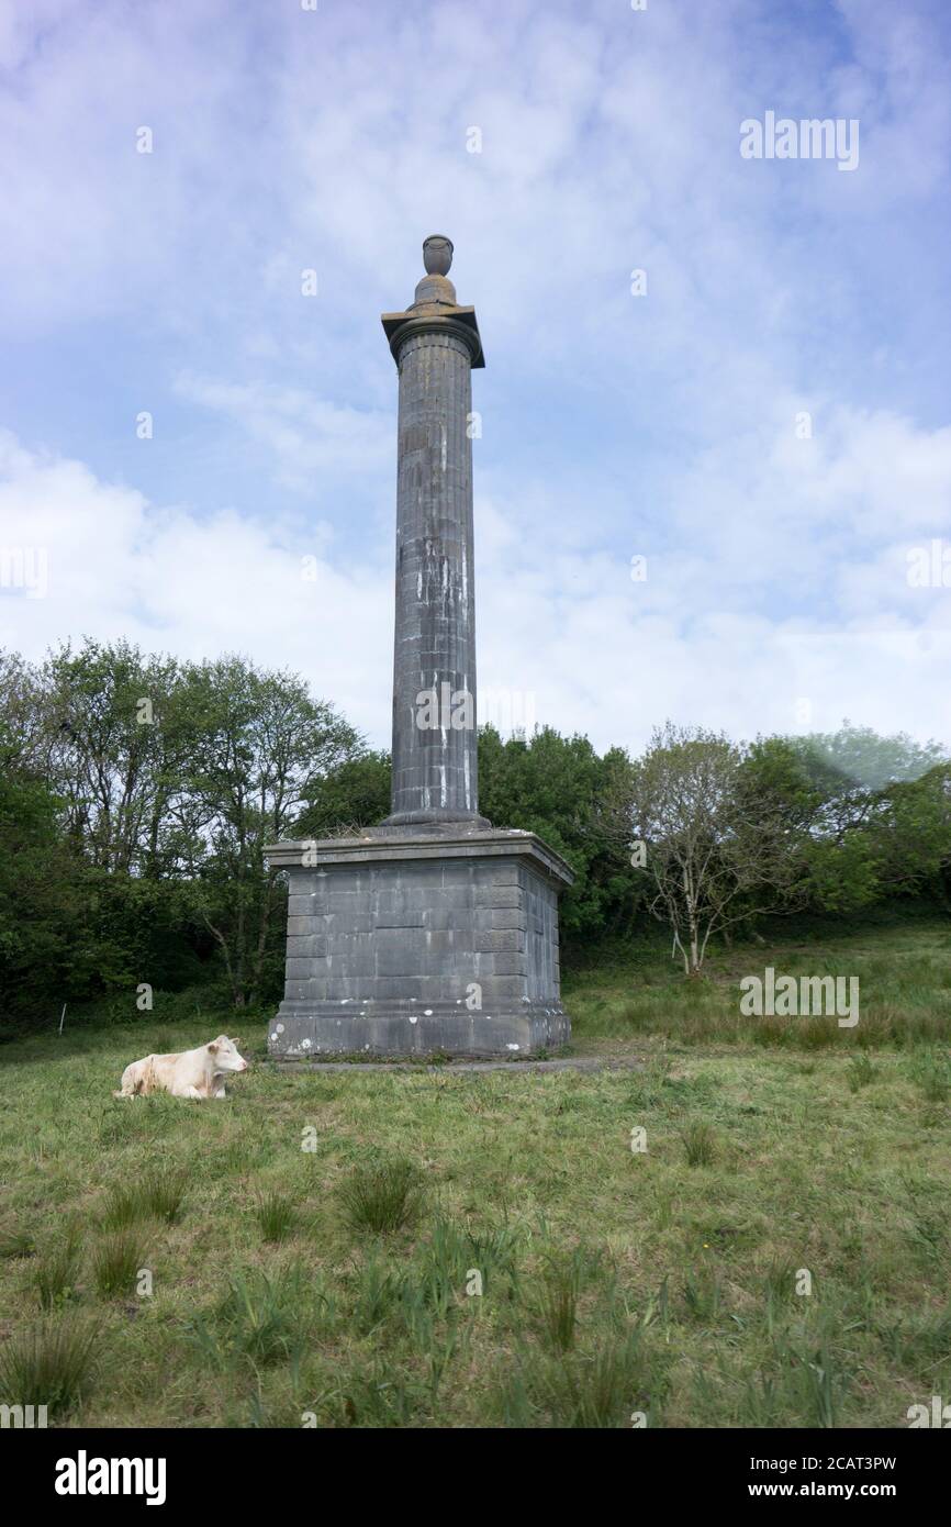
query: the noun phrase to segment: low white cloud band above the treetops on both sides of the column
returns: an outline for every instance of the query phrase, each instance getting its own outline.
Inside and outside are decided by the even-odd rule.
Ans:
[[[919,463],[902,438],[911,481],[928,478],[934,441],[920,437]],[[844,470],[835,458],[827,478]],[[9,437],[0,515],[8,544],[49,553],[46,599],[0,591],[2,644],[40,657],[58,638],[90,634],[194,658],[241,651],[304,673],[374,742],[388,742],[392,567],[383,550],[354,565],[330,544],[314,553],[299,524],[159,510]],[[704,562],[675,548],[635,583],[609,553],[522,538],[517,510],[502,502],[476,496],[476,525],[479,683],[531,695],[540,724],[585,731],[598,747],[640,747],[666,716],[734,736],[801,730],[797,707],[808,701],[820,730],[847,715],[885,731],[951,736],[951,594],[908,589],[895,548],[850,570],[853,618],[833,623],[823,609],[803,615],[798,599],[766,612],[721,602],[714,548]],[[305,554],[316,554],[316,582],[302,577]],[[933,612],[942,600],[943,625],[928,629],[925,602]]]

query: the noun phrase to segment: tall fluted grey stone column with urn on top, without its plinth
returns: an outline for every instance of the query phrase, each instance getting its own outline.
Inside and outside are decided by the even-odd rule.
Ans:
[[[423,246],[426,276],[383,327],[400,373],[391,826],[487,826],[478,809],[472,519],[475,312]]]

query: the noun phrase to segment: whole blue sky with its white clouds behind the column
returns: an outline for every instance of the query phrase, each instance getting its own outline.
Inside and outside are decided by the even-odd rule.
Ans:
[[[14,0],[0,547],[49,576],[0,646],[243,651],[385,744],[379,316],[446,232],[484,715],[951,741],[951,588],[907,576],[951,547],[949,44],[945,0]],[[856,119],[858,166],[742,159],[766,111]]]

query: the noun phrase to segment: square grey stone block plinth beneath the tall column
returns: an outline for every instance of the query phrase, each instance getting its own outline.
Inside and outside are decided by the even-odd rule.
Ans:
[[[379,829],[267,857],[290,883],[273,1057],[511,1057],[568,1041],[557,898],[574,876],[534,834]]]

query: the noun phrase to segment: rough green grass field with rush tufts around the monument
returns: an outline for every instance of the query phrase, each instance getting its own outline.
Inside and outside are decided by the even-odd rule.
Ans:
[[[951,1393],[951,930],[656,948],[579,1054],[111,1098],[208,1015],[0,1049],[0,1402],[92,1426],[904,1426]],[[861,1020],[740,1020],[772,964]],[[643,1132],[643,1135],[632,1132]],[[632,1148],[643,1145],[644,1148]],[[811,1293],[797,1292],[811,1278]],[[151,1287],[151,1292],[148,1292]],[[481,1289],[481,1292],[479,1292]]]

